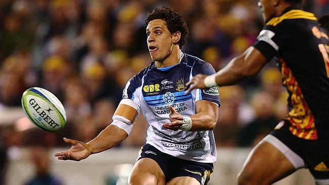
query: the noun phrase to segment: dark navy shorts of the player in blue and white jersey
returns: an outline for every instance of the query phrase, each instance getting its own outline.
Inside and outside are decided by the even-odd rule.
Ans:
[[[210,180],[210,174],[214,170],[213,163],[200,163],[180,159],[160,152],[149,144],[141,148],[137,160],[142,158],[153,159],[162,169],[167,182],[175,177],[190,176],[197,179],[201,185],[205,185]]]

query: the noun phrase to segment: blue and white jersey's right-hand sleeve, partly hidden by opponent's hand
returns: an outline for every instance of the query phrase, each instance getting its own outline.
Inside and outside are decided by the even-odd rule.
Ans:
[[[213,66],[209,63],[204,63],[199,70],[194,74],[206,74],[206,75],[211,75],[216,73],[215,69]],[[210,102],[216,103],[218,106],[221,105],[220,103],[220,98],[219,98],[219,91],[218,91],[218,86],[213,86],[207,89],[195,89],[195,102],[199,100],[207,100]]]

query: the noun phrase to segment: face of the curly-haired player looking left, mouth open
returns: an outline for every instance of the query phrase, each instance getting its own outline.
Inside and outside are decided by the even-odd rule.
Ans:
[[[147,46],[153,61],[162,62],[173,50],[173,36],[166,21],[154,19],[146,27]]]

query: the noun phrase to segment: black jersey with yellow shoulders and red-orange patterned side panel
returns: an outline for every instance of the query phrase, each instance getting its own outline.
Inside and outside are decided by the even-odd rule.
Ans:
[[[292,134],[306,140],[329,138],[329,38],[317,18],[297,7],[268,21],[254,47],[268,61],[276,57],[289,92]]]

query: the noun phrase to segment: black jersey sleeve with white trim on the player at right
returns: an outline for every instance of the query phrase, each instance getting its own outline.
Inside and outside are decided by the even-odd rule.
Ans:
[[[267,61],[270,61],[283,47],[284,42],[289,37],[287,34],[283,23],[277,26],[266,25],[259,33],[253,47],[259,50]]]

